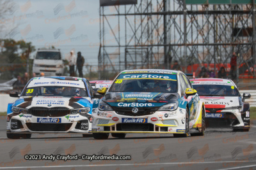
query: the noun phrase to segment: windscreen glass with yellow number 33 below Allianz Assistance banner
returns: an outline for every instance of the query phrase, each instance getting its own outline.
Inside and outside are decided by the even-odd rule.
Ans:
[[[30,87],[24,90],[22,96],[63,96],[63,97],[88,97],[86,89],[65,86]]]

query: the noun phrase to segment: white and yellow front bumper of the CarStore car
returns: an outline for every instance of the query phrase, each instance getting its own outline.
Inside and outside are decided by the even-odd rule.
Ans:
[[[152,115],[131,117],[115,111],[95,111],[92,132],[96,133],[178,133],[184,134],[186,110],[156,111]]]

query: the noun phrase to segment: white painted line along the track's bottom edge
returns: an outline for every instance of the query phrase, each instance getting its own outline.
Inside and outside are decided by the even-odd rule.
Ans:
[[[255,161],[218,161],[218,162],[166,162],[166,163],[149,163],[148,165],[175,165],[175,164],[216,164],[216,163],[250,163]],[[145,164],[104,164],[104,165],[71,165],[71,166],[19,166],[19,167],[0,167],[0,169],[21,169],[21,168],[56,168],[56,167],[108,167],[108,166],[145,166]],[[256,165],[253,165],[256,166]],[[221,169],[224,170],[224,169]]]

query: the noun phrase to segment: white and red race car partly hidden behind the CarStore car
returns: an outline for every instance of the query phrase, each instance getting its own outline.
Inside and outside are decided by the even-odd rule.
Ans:
[[[232,80],[197,78],[190,81],[205,103],[207,127],[250,130],[250,104],[244,102],[250,94],[244,93],[242,97]]]

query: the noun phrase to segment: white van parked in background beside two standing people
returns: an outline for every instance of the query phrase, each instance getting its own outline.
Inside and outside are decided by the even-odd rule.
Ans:
[[[61,76],[63,71],[60,50],[38,49],[33,64],[33,73],[36,73],[36,76],[40,76],[40,73],[44,73],[45,76]]]

